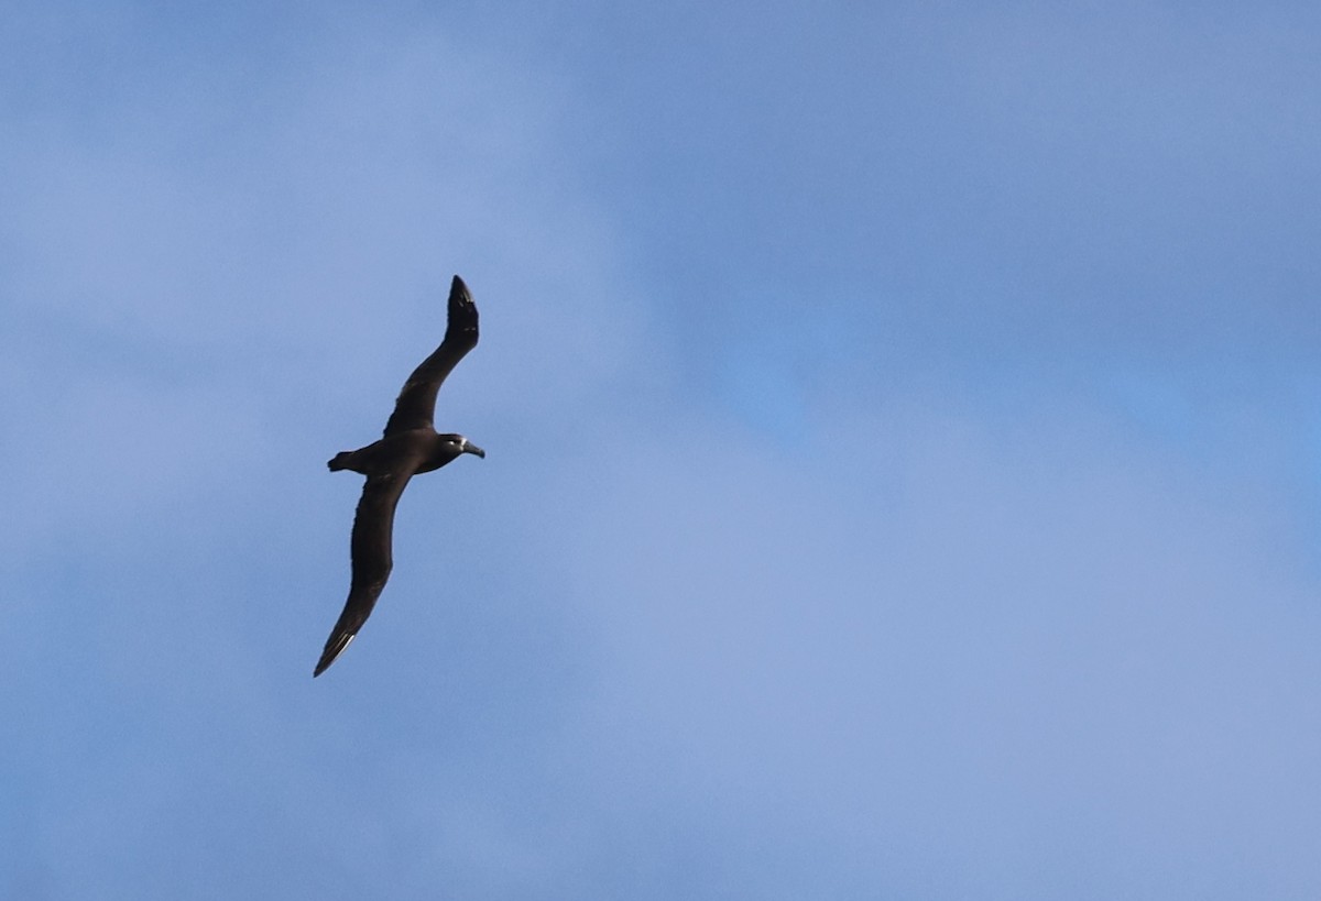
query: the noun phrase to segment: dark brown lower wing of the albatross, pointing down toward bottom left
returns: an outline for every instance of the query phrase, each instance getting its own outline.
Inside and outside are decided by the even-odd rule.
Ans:
[[[390,579],[390,569],[394,565],[390,546],[395,526],[395,506],[411,477],[411,472],[404,472],[402,476],[371,476],[362,486],[358,514],[353,519],[353,581],[349,587],[349,600],[334,629],[330,630],[330,638],[326,639],[313,676],[325,672],[349,646],[362,629],[362,624],[371,616],[371,608],[376,605],[380,589]]]

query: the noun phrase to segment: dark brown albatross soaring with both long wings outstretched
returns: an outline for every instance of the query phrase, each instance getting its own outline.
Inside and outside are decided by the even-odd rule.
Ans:
[[[486,452],[462,435],[437,435],[432,425],[436,391],[454,365],[477,346],[477,306],[468,285],[457,275],[449,287],[449,325],[436,351],[404,382],[395,412],[379,441],[357,450],[343,450],[328,462],[332,472],[351,469],[367,477],[353,521],[353,580],[349,600],[334,624],[326,647],[317,661],[313,678],[325,672],[349,646],[362,624],[371,616],[392,565],[390,535],[395,524],[395,505],[408,480],[417,473],[440,469],[461,453]]]

